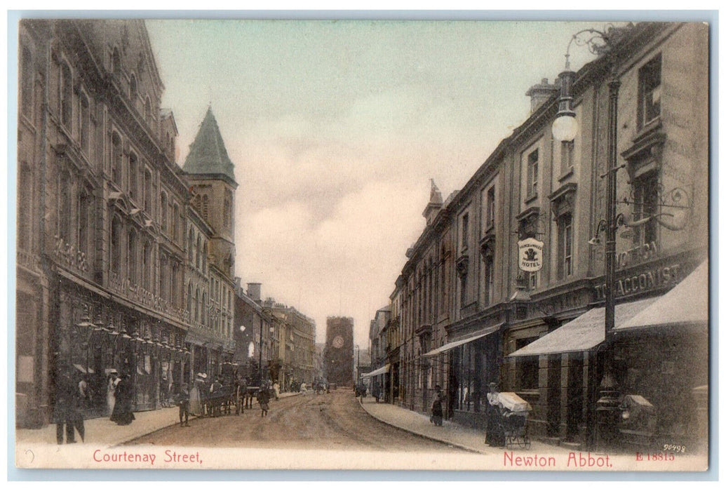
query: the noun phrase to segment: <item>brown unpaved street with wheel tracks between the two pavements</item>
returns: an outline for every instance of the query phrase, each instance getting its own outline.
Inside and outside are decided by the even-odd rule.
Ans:
[[[273,400],[266,418],[261,418],[255,402],[244,415],[197,418],[189,422],[188,428],[176,424],[130,443],[464,453],[380,423],[360,407],[350,389]]]

